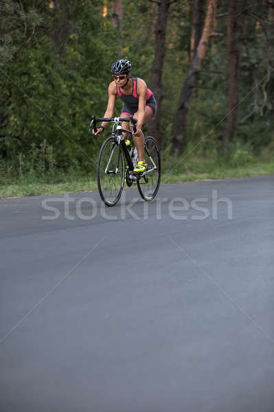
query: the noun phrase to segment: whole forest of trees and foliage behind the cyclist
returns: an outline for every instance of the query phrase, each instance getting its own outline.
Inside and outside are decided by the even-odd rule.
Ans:
[[[118,58],[155,94],[146,133],[165,168],[273,159],[274,0],[1,0],[0,14],[1,185],[94,174],[89,122]]]

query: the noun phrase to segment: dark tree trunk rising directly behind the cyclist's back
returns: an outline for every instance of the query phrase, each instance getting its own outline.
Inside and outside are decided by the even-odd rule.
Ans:
[[[152,89],[157,101],[157,111],[155,117],[148,124],[148,133],[155,137],[159,146],[161,146],[160,117],[161,117],[161,87],[163,60],[165,58],[165,34],[168,23],[168,9],[170,0],[159,1],[159,14],[155,25],[155,58],[152,63],[150,74],[150,88]]]

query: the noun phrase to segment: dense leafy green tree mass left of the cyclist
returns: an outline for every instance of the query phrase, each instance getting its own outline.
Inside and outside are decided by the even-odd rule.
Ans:
[[[32,3],[10,0],[0,8],[0,155],[16,161],[47,140],[58,165],[90,165],[100,143],[87,135],[87,119],[106,104],[109,71],[100,85],[98,71],[113,60],[113,27],[106,22],[102,30],[101,4],[93,0]]]

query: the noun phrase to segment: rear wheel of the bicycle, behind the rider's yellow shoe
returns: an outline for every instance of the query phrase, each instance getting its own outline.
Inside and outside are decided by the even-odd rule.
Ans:
[[[145,138],[145,161],[148,173],[137,180],[139,194],[144,201],[153,201],[158,193],[161,181],[161,156],[157,141],[154,137]]]

